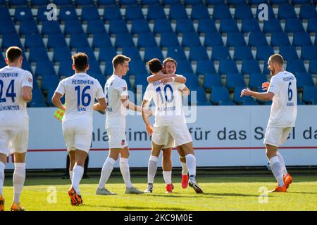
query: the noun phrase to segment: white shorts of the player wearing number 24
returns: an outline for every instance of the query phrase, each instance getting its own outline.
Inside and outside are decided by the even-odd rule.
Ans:
[[[29,143],[29,130],[0,130],[0,153],[26,153]]]

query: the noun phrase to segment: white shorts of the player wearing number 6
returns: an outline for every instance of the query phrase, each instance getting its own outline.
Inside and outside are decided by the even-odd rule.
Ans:
[[[264,144],[280,147],[282,143],[285,143],[292,127],[266,127],[266,135],[264,136]]]

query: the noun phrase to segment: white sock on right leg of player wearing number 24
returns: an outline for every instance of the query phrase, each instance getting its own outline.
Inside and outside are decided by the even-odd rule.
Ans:
[[[15,163],[13,172],[13,193],[14,203],[20,203],[20,195],[22,193],[25,181],[25,163]]]

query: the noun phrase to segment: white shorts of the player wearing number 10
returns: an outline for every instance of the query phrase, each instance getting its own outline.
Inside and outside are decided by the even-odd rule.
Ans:
[[[192,142],[192,136],[187,129],[187,124],[184,122],[170,126],[154,127],[152,141],[157,145],[168,146],[170,144],[168,143],[168,134],[175,140],[175,146],[182,146],[185,143]]]

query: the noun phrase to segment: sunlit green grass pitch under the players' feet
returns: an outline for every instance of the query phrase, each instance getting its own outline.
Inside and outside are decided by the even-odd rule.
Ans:
[[[21,203],[26,210],[317,210],[316,176],[294,175],[287,193],[268,193],[260,196],[263,187],[271,190],[275,185],[273,176],[198,176],[197,181],[204,194],[196,194],[189,186],[182,189],[180,176],[174,174],[173,194],[166,194],[163,179],[156,175],[154,193],[142,195],[125,194],[120,176],[111,176],[107,188],[118,195],[95,195],[99,178],[83,179],[80,185],[83,205],[71,206],[68,197],[69,180],[60,178],[29,178],[25,181]],[[133,177],[132,183],[139,190],[147,187],[147,177]],[[54,195],[56,190],[56,195]],[[261,192],[260,192],[261,191]],[[9,177],[4,182],[6,210],[13,198],[13,186]],[[49,201],[48,201],[49,200]],[[55,203],[56,200],[56,203]],[[50,203],[49,203],[50,202]]]

